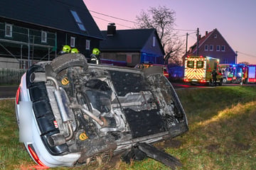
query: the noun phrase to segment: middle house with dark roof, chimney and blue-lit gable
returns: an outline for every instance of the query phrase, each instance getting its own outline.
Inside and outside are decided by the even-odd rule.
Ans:
[[[102,63],[134,67],[139,63],[164,63],[164,49],[156,29],[116,30],[114,23],[102,31]]]

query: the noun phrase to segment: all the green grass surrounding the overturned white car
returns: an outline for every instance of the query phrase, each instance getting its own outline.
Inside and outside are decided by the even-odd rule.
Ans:
[[[179,170],[251,170],[256,167],[256,87],[220,86],[177,90],[189,130],[176,137],[181,145],[157,144],[181,160]],[[14,100],[0,101],[0,169],[38,169],[18,142]],[[145,159],[55,169],[169,169]]]

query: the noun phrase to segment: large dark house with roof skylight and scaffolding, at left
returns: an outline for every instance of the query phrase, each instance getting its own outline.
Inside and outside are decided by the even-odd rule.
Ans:
[[[63,45],[90,55],[102,33],[82,0],[1,0],[0,67],[53,60]]]

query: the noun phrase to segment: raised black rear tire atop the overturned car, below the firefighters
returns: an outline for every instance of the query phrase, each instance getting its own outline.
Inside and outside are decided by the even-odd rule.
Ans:
[[[53,62],[50,64],[53,67],[53,71],[58,74],[63,69],[68,67],[83,67],[84,69],[88,68],[87,60],[85,56],[80,53],[68,53],[56,57]]]

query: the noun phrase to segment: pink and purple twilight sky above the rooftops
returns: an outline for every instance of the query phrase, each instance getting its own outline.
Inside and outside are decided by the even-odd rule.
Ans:
[[[108,23],[115,23],[117,30],[135,28],[133,22],[142,10],[166,6],[176,13],[174,28],[184,43],[186,33],[189,34],[188,47],[196,42],[197,28],[202,36],[217,28],[230,47],[238,52],[238,62],[256,64],[256,0],[83,1],[100,30],[107,30]]]

